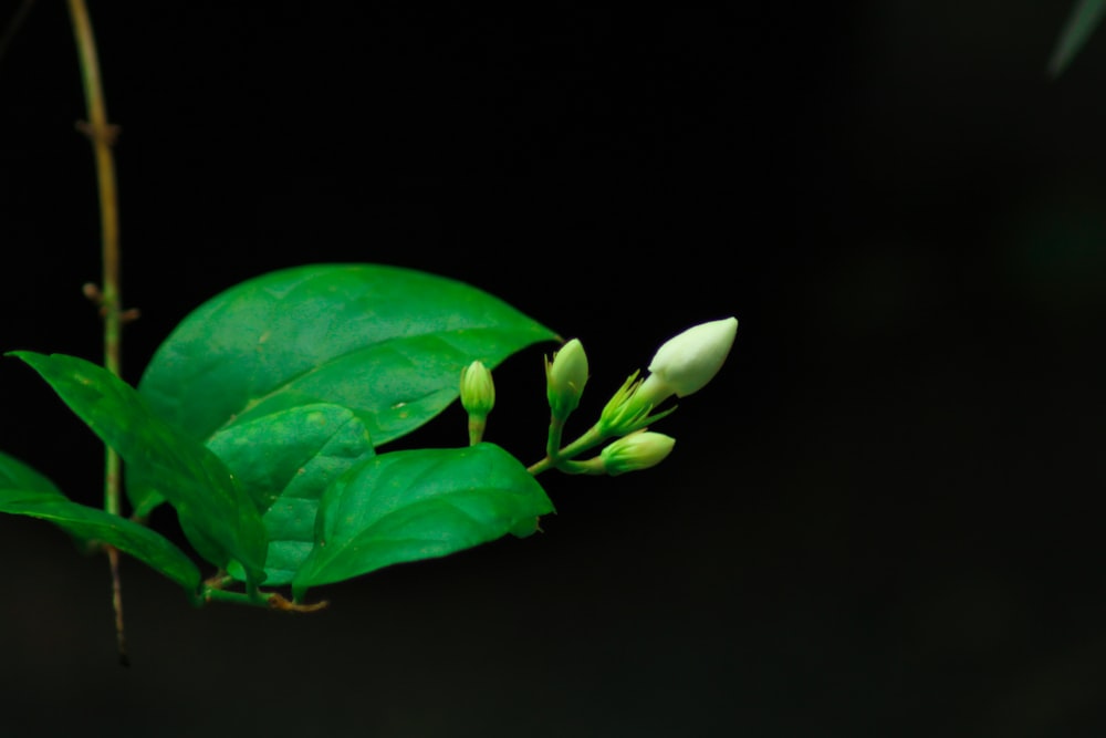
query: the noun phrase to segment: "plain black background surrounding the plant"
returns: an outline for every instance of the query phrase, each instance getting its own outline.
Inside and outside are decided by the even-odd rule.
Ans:
[[[1050,80],[1067,2],[732,4],[91,3],[132,382],[204,300],[321,261],[580,336],[581,424],[664,339],[741,328],[665,464],[543,477],[544,534],[310,616],[125,561],[131,669],[106,564],[0,519],[4,735],[1106,732],[1106,38]],[[39,0],[0,59],[0,349],[100,355],[83,115]],[[497,373],[524,460],[543,351]],[[95,438],[13,360],[0,412],[97,503]]]

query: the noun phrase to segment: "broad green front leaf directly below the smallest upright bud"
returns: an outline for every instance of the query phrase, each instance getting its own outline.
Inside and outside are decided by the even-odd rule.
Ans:
[[[394,451],[348,471],[323,495],[315,548],[292,582],[307,588],[383,567],[525,536],[553,511],[541,485],[492,444]]]

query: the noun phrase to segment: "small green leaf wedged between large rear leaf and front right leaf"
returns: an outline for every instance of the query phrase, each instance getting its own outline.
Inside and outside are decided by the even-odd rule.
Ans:
[[[337,405],[303,405],[217,433],[208,448],[262,514],[269,554],[265,584],[288,584],[314,545],[319,498],[373,443],[354,413]],[[242,578],[241,569],[229,572]]]

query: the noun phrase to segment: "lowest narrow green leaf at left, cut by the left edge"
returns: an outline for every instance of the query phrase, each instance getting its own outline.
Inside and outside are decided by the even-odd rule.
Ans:
[[[180,549],[126,518],[77,505],[56,491],[9,488],[3,482],[0,482],[0,512],[49,520],[81,540],[114,545],[189,592],[199,589],[200,571]]]

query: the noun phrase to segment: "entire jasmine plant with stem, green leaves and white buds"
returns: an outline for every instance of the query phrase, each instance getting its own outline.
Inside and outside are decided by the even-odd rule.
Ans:
[[[104,505],[73,501],[46,475],[0,453],[0,512],[46,520],[112,569],[121,659],[118,555],[178,584],[196,605],[311,612],[309,593],[400,562],[525,537],[554,510],[538,478],[616,476],[666,459],[675,439],[648,429],[719,372],[738,322],[666,342],[580,437],[563,443],[589,377],[583,344],[476,287],[373,263],[306,264],[232,285],[189,313],[132,386],[119,376],[123,310],[112,146],[92,25],[69,0],[100,190],[103,278],[85,294],[104,319],[104,361],[19,350],[22,362],[103,443]],[[492,372],[538,344],[550,420],[526,465],[486,439]],[[455,401],[468,445],[387,451]],[[542,448],[538,436],[535,448]],[[585,454],[592,454],[582,458]],[[539,451],[540,454],[541,451]],[[538,454],[535,454],[538,456]],[[167,506],[190,547],[150,527]]]

